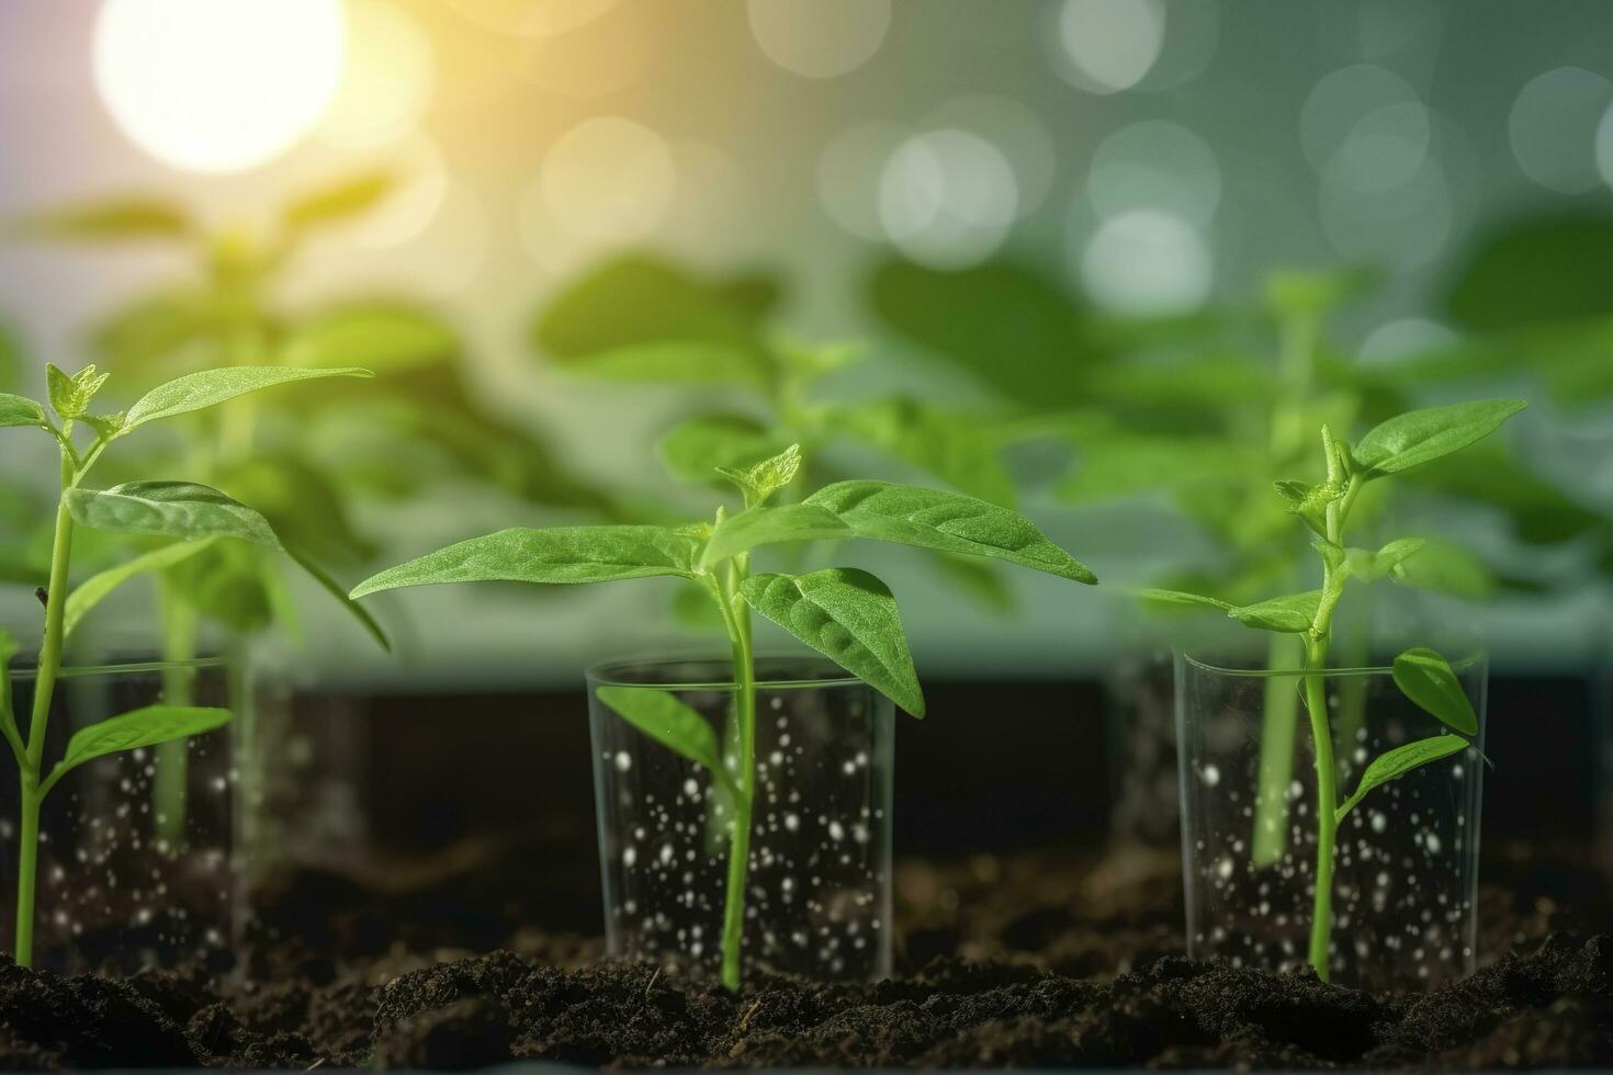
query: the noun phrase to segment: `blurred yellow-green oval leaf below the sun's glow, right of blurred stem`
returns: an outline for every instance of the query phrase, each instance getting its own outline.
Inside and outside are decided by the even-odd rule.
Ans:
[[[386,376],[448,361],[458,350],[458,335],[434,314],[366,306],[298,324],[281,348],[281,361],[302,369],[363,366]]]

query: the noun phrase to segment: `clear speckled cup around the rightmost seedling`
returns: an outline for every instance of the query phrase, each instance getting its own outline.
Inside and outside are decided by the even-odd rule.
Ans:
[[[1339,825],[1331,980],[1369,990],[1432,988],[1474,970],[1486,661],[1453,662],[1479,717],[1473,746],[1381,785]],[[1316,672],[1327,699],[1340,803],[1384,751],[1447,728],[1411,703],[1387,667]],[[1277,788],[1268,698],[1305,674],[1218,667],[1177,654],[1182,870],[1187,948],[1234,965],[1305,965],[1316,891],[1316,767],[1298,706]],[[1265,788],[1263,788],[1265,785]],[[1261,864],[1257,830],[1281,825]],[[1269,836],[1269,832],[1268,832]],[[1271,846],[1269,838],[1265,840]]]

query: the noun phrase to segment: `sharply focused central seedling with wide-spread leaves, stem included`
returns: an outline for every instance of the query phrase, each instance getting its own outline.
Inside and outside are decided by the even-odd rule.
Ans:
[[[744,509],[718,508],[710,522],[684,527],[598,525],[511,529],[450,545],[361,582],[361,598],[379,590],[445,582],[610,582],[673,575],[710,596],[727,632],[734,661],[731,748],[718,743],[698,712],[663,690],[602,687],[600,699],[627,724],[711,774],[731,803],[727,883],[723,906],[723,985],[740,982],[745,875],[756,790],[756,675],[750,614],[760,612],[840,664],[915,717],[924,716],[913,658],[895,596],[855,567],[806,574],[752,574],[750,556],[766,545],[821,538],[895,542],[942,553],[984,556],[1074,582],[1097,579],[1053,545],[1024,516],[997,504],[890,482],[834,482],[798,503],[771,504],[802,466],[800,448],[748,467],[719,467],[744,496]]]

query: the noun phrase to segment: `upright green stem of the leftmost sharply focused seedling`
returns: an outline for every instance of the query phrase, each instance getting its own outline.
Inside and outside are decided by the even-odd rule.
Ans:
[[[45,641],[39,650],[39,672],[34,677],[34,711],[27,727],[27,749],[21,775],[21,843],[16,869],[16,962],[34,965],[34,890],[39,864],[39,770],[45,759],[45,730],[50,727],[50,701],[61,670],[63,614],[68,606],[68,566],[73,559],[73,513],[66,490],[74,479],[71,459],[61,456],[61,490],[56,503],[56,533],[50,550],[50,583],[45,590]]]

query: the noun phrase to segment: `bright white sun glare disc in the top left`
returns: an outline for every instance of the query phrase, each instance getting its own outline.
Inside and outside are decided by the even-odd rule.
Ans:
[[[152,156],[235,172],[308,132],[345,50],[340,0],[106,0],[95,84]]]

